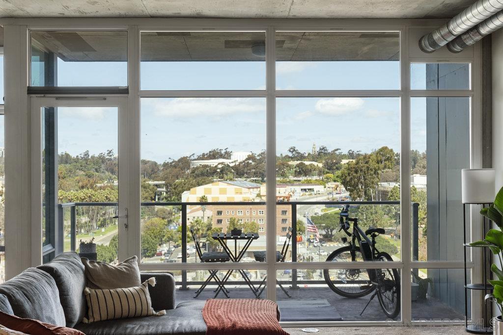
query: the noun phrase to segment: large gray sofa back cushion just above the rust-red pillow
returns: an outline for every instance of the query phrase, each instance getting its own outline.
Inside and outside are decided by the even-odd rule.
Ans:
[[[45,271],[29,268],[0,285],[14,315],[54,325],[66,324],[54,279]]]

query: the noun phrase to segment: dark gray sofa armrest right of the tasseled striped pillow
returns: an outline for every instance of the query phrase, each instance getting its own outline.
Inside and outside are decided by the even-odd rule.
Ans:
[[[148,286],[152,299],[152,308],[155,310],[175,308],[175,278],[166,272],[141,272],[141,281],[155,278],[155,286]]]

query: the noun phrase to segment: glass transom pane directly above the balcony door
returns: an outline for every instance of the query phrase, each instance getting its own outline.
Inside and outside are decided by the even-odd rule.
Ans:
[[[127,86],[127,32],[31,32],[31,86]]]

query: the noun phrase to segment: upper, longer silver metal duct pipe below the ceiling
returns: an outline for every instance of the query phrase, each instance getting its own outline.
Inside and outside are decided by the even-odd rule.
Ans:
[[[419,47],[424,52],[434,52],[500,10],[503,0],[478,0],[447,24],[423,36]]]

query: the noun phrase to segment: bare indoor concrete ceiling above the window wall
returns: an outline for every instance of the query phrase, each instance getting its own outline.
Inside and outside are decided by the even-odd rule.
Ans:
[[[474,0],[0,0],[0,18],[443,19]]]

